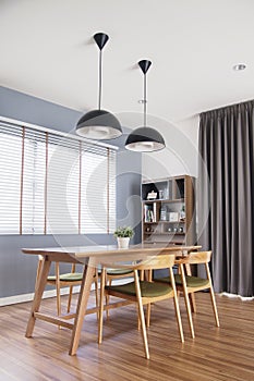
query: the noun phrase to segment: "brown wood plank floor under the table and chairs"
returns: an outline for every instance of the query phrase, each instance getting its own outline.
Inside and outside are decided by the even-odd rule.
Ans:
[[[153,305],[148,332],[150,360],[144,358],[135,306],[110,311],[104,342],[97,344],[96,316],[86,316],[76,356],[69,356],[71,331],[37,321],[25,339],[31,303],[0,309],[0,380],[24,381],[253,381],[254,302],[217,295],[221,328],[216,328],[209,295],[197,294],[196,339],[180,298],[185,343],[178,335],[172,300]],[[44,300],[44,310],[56,299]],[[94,303],[93,296],[90,304]]]

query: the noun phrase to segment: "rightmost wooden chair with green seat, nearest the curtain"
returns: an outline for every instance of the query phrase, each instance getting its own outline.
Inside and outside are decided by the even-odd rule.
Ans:
[[[176,259],[176,263],[179,266],[179,274],[174,274],[176,285],[178,292],[182,292],[184,295],[184,302],[186,306],[188,311],[188,318],[189,318],[189,324],[191,330],[191,335],[194,339],[194,325],[193,325],[193,319],[192,319],[192,311],[196,312],[196,304],[195,298],[191,298],[190,303],[190,296],[197,292],[203,290],[209,290],[210,293],[210,299],[215,316],[216,325],[219,327],[219,317],[215,300],[215,293],[214,287],[211,283],[210,278],[210,271],[209,271],[209,262],[210,262],[211,251],[192,251],[189,254],[188,257],[181,257]],[[190,272],[190,266],[191,265],[201,265],[204,263],[205,270],[206,270],[206,279],[199,278],[199,276],[192,276]],[[167,278],[157,279],[159,282],[167,282]]]

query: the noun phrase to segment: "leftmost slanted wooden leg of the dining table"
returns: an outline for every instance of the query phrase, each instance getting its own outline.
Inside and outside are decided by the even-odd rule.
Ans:
[[[35,327],[35,316],[34,312],[38,312],[39,310],[39,306],[40,306],[40,302],[43,298],[43,294],[44,294],[44,290],[47,283],[47,276],[49,273],[49,268],[50,268],[51,261],[48,260],[48,258],[43,260],[43,265],[41,265],[41,269],[39,271],[39,276],[36,281],[36,285],[35,285],[35,296],[34,296],[34,300],[32,304],[32,308],[31,308],[31,315],[29,315],[29,319],[28,319],[28,323],[26,327],[26,337],[31,337],[34,331],[34,327]]]

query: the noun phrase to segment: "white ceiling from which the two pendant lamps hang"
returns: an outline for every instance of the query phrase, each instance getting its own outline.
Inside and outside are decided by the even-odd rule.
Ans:
[[[254,98],[252,0],[0,0],[0,85],[78,111],[97,108],[105,32],[102,108],[178,122]],[[234,72],[235,63],[246,70]]]

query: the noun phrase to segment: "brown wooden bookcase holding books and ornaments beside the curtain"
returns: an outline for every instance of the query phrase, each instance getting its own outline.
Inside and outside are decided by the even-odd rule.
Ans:
[[[142,183],[143,242],[196,242],[195,179],[189,175]]]

